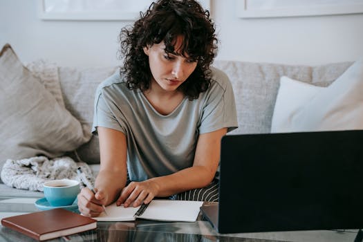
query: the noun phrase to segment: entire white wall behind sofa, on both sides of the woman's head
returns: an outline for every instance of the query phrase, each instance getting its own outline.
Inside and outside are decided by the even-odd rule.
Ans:
[[[363,14],[240,19],[236,1],[211,0],[220,37],[217,59],[325,64],[363,56]],[[113,66],[127,21],[42,21],[37,0],[0,0],[0,45],[10,43],[23,62]]]

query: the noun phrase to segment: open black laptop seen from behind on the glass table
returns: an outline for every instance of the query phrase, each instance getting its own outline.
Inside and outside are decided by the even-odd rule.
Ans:
[[[219,233],[363,227],[363,131],[224,136]]]

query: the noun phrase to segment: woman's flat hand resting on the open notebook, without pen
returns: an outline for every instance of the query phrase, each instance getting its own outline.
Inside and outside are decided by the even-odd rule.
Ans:
[[[150,203],[157,196],[159,186],[154,180],[145,180],[142,182],[131,182],[127,187],[122,189],[120,197],[116,201],[116,205],[122,203],[124,207],[138,207],[142,203]]]

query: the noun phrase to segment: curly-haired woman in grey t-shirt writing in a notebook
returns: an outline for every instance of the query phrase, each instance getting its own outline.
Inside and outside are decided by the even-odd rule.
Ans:
[[[237,121],[227,76],[210,68],[214,32],[194,0],[159,0],[122,29],[124,66],[95,95],[101,165],[96,194],[78,196],[82,214],[155,197],[218,201],[221,138]]]

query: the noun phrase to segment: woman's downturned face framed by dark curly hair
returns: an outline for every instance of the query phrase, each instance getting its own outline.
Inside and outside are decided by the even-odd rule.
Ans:
[[[183,37],[177,37],[174,50],[178,52]],[[156,82],[165,91],[176,91],[189,75],[193,73],[197,62],[183,57],[178,53],[165,53],[164,41],[144,48],[149,56],[149,66],[152,74],[151,84]]]

